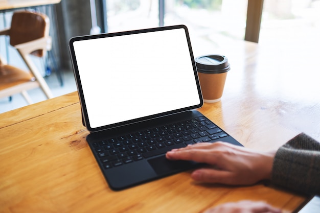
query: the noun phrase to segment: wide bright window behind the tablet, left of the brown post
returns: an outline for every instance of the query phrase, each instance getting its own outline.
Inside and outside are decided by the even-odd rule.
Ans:
[[[247,0],[107,0],[105,5],[107,32],[158,27],[163,21],[186,25],[194,39],[244,38]]]

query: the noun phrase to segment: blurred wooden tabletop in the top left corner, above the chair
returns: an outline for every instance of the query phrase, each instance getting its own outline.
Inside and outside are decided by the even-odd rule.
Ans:
[[[58,4],[61,0],[0,0],[0,10]]]

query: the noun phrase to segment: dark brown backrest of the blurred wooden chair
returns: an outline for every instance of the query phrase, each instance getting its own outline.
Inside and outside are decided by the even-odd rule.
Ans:
[[[17,45],[38,38],[49,36],[50,20],[42,13],[17,11],[12,15],[9,31],[10,44]],[[43,50],[36,50],[32,55],[42,57]]]

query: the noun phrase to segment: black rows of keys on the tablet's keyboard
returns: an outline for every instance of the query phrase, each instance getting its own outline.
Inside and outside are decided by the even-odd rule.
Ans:
[[[212,142],[226,136],[228,135],[210,120],[200,116],[184,122],[106,138],[94,143],[93,150],[104,169],[110,169],[189,144]]]

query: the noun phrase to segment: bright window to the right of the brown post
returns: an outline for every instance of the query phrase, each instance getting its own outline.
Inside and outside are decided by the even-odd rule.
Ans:
[[[319,0],[264,0],[261,44],[319,44]]]

